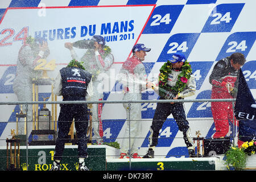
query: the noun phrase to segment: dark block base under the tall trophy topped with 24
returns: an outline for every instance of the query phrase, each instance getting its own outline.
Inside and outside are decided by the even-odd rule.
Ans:
[[[55,145],[57,131],[55,130],[32,130],[30,146]]]

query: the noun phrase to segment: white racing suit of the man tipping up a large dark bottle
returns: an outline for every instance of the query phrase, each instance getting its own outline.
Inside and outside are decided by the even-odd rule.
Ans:
[[[72,59],[78,59],[78,56],[74,49],[71,49]],[[99,74],[105,73],[111,67],[114,62],[114,57],[110,53],[102,59],[100,53],[98,51],[94,51],[94,49],[88,49],[84,56],[81,57],[80,61],[83,61],[83,66],[86,71],[91,73],[92,81],[93,81],[93,96],[88,98],[88,101],[99,101],[103,100],[103,82],[101,78],[99,78]],[[101,104],[93,104],[92,105],[92,127],[93,127],[93,140],[97,140],[98,143],[102,142],[103,137],[103,129],[102,129],[102,103]]]

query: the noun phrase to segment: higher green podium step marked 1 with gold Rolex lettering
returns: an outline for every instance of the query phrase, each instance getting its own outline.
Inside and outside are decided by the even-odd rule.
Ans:
[[[65,145],[61,167],[64,171],[77,171],[77,145]],[[53,163],[55,146],[20,146],[20,171],[48,171]],[[6,146],[0,147],[0,171],[6,170]],[[119,150],[106,145],[88,145],[89,157],[85,166],[92,171],[105,171],[106,158],[119,157]]]

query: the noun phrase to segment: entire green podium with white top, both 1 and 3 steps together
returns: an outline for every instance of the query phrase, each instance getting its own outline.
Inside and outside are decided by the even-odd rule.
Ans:
[[[48,171],[53,163],[55,146],[20,146],[20,170]],[[119,159],[120,151],[106,145],[88,145],[85,165],[92,171],[169,171],[169,170],[226,170],[222,156],[210,158]],[[0,147],[0,171],[6,170],[6,147]],[[130,168],[131,161],[131,168]],[[61,166],[64,171],[77,170],[77,145],[65,145]]]

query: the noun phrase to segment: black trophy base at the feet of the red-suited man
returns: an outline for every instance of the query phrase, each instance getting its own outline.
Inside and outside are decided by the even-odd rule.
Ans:
[[[225,154],[230,146],[229,137],[204,139],[204,157]]]

